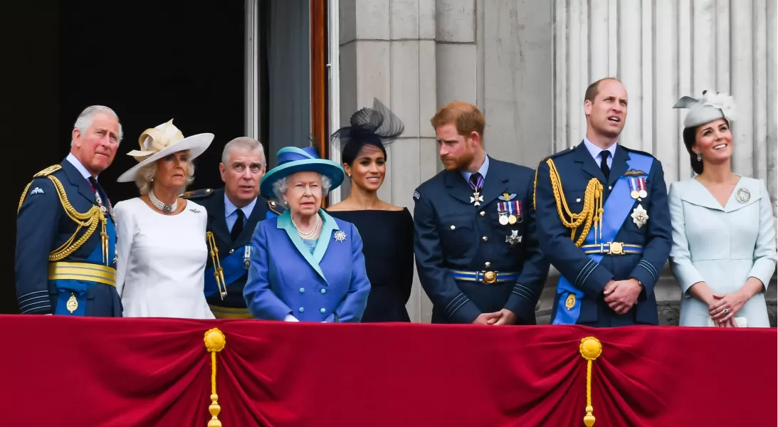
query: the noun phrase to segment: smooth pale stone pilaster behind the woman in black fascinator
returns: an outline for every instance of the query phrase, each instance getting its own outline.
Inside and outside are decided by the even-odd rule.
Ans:
[[[405,123],[387,145],[387,177],[379,196],[413,212],[413,191],[437,173],[435,0],[340,0],[340,114],[385,103]],[[344,187],[342,198],[348,195]],[[429,321],[432,306],[414,278],[408,312]]]

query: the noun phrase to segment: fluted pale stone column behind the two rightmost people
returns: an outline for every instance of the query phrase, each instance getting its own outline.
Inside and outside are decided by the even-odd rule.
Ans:
[[[587,86],[614,76],[629,93],[620,142],[657,156],[669,185],[692,177],[682,140],[686,112],[673,104],[684,95],[701,96],[704,89],[731,93],[738,104],[734,171],[765,179],[776,201],[775,2],[555,0],[553,5],[554,151],[583,138]],[[770,286],[768,305],[774,307]],[[665,268],[657,284],[657,300],[667,309],[664,321],[677,322],[680,298]],[[548,309],[544,297],[541,310]]]

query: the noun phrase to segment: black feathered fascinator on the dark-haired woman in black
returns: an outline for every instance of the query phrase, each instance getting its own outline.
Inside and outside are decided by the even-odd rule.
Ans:
[[[339,139],[343,163],[352,164],[365,145],[375,145],[386,157],[384,145],[391,143],[405,131],[405,124],[383,103],[373,98],[373,108],[363,108],[352,114],[349,126],[332,134]]]

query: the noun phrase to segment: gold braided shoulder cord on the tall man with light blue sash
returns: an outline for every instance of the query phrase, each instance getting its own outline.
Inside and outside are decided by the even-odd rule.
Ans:
[[[548,164],[548,176],[551,178],[551,187],[554,191],[554,199],[556,201],[556,211],[559,213],[559,219],[562,220],[562,225],[571,230],[570,240],[576,243],[577,247],[584,244],[586,236],[591,229],[592,222],[594,222],[594,237],[595,241],[598,236],[602,237],[602,214],[605,210],[602,208],[602,191],[603,187],[600,180],[592,178],[587,184],[586,191],[584,191],[584,208],[579,213],[570,212],[570,208],[567,206],[565,194],[562,192],[562,179],[559,177],[559,172],[556,170],[553,159],[545,161]],[[535,171],[535,188],[538,187],[538,175]],[[564,212],[562,212],[564,208]],[[566,215],[565,215],[566,214]],[[567,219],[569,218],[569,220]],[[583,231],[576,240],[576,230],[580,226],[584,226]]]

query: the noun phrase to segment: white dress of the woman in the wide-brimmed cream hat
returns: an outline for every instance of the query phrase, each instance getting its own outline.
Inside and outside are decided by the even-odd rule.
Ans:
[[[205,301],[208,214],[192,201],[163,215],[140,198],[114,207],[117,222],[116,288],[124,317],[213,319]]]

